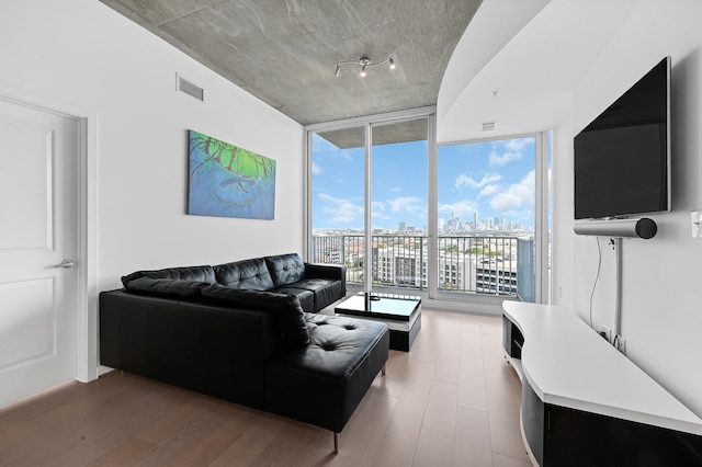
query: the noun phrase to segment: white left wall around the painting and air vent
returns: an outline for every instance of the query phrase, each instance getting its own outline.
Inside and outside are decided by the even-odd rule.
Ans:
[[[177,72],[205,103],[176,92]],[[97,116],[93,358],[97,292],[121,275],[302,252],[303,127],[99,1],[3,0],[2,89]],[[274,220],[185,215],[188,129],[276,160]]]

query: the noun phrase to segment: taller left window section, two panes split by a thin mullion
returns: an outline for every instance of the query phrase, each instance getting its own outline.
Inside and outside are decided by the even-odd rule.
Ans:
[[[309,257],[350,289],[426,289],[429,115],[308,134]],[[367,278],[367,280],[366,280]]]

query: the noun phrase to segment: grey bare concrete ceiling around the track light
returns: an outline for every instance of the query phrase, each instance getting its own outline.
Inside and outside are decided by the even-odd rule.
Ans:
[[[435,105],[482,0],[100,0],[307,125]],[[387,66],[335,64],[367,56]],[[392,139],[392,138],[390,138]]]

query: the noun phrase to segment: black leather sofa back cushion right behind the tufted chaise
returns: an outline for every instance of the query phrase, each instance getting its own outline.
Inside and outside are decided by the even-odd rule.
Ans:
[[[202,296],[228,306],[270,312],[281,333],[281,340],[286,345],[305,345],[309,342],[305,314],[294,295],[235,289],[214,284],[203,288]]]

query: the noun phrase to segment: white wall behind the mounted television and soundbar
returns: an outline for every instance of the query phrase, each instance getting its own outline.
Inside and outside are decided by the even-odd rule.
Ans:
[[[698,414],[702,239],[691,238],[690,210],[702,208],[700,18],[699,1],[641,1],[575,90],[573,117],[558,128],[571,133],[554,160],[559,206],[554,213],[554,295],[589,321],[598,250],[596,238],[573,235],[570,138],[664,56],[672,57],[672,212],[649,216],[658,224],[654,239],[623,240],[622,337],[629,357]],[[614,324],[614,251],[609,239],[600,240],[602,271],[592,307],[597,328]]]

